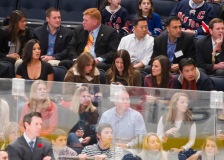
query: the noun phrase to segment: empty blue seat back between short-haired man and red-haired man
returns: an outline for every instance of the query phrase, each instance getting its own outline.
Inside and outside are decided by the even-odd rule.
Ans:
[[[60,0],[58,8],[61,11],[62,24],[81,23],[83,11],[97,8],[98,0]]]

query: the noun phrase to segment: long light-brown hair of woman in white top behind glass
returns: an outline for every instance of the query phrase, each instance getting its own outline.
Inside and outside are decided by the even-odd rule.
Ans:
[[[170,103],[168,106],[168,113],[166,114],[165,122],[171,122],[171,123],[175,122],[175,118],[177,114],[176,105],[177,105],[177,101],[179,100],[179,97],[181,96],[187,97],[187,99],[189,99],[188,95],[185,93],[182,93],[182,92],[175,93],[170,100]],[[192,112],[189,109],[187,109],[186,112],[184,113],[183,121],[187,122],[187,121],[191,121],[191,119],[192,119]]]

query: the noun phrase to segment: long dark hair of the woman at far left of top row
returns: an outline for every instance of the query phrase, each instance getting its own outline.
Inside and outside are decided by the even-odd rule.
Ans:
[[[7,29],[9,30],[9,33],[11,35],[11,42],[13,43],[17,41],[18,37],[21,34],[25,34],[25,31],[21,31],[18,28],[19,21],[24,17],[26,18],[26,15],[20,10],[14,10],[10,14],[10,20]]]

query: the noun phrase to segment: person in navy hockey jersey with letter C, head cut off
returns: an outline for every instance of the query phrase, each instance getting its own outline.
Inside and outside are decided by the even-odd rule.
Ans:
[[[172,10],[170,16],[180,17],[183,32],[199,38],[209,34],[207,24],[215,18],[215,12],[204,0],[182,0]]]

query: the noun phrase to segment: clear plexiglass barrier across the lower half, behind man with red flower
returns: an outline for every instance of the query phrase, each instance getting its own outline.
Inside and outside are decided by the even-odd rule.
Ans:
[[[0,95],[1,149],[23,134],[24,115],[37,111],[40,136],[57,159],[224,158],[222,92],[1,79]]]

